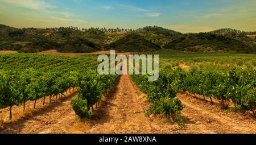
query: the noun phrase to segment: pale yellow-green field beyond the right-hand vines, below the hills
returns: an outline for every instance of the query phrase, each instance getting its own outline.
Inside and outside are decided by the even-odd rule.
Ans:
[[[225,71],[229,68],[237,70],[256,69],[255,54],[240,53],[192,53],[161,50],[159,54],[160,68],[175,69],[181,67],[186,71],[204,70],[204,71]]]

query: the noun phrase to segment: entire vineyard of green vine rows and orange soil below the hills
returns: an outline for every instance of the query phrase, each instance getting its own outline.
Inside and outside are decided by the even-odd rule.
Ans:
[[[10,119],[0,132],[255,132],[254,55],[159,55],[156,81],[148,74],[99,75],[98,55],[0,55],[0,113],[8,110]],[[26,113],[31,102],[39,113],[12,121],[12,111]]]

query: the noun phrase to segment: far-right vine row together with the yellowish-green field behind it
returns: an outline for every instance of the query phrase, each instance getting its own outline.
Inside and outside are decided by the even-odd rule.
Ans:
[[[164,52],[164,53],[163,53]],[[161,68],[178,72],[183,92],[200,94],[220,100],[221,108],[229,110],[250,110],[255,116],[256,57],[248,54],[158,52]]]

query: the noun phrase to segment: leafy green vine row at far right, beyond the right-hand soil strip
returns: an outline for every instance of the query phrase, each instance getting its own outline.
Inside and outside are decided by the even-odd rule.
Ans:
[[[235,111],[250,110],[255,115],[256,109],[256,71],[195,71],[184,72],[183,90],[220,100],[222,109],[227,109],[225,101],[234,103]]]

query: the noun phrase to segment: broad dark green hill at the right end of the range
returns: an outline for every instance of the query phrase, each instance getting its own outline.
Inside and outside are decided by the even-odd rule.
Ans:
[[[188,34],[164,45],[166,49],[179,51],[202,51],[202,52],[240,52],[256,53],[255,44],[247,44],[242,40],[234,39],[229,36],[213,33]]]

